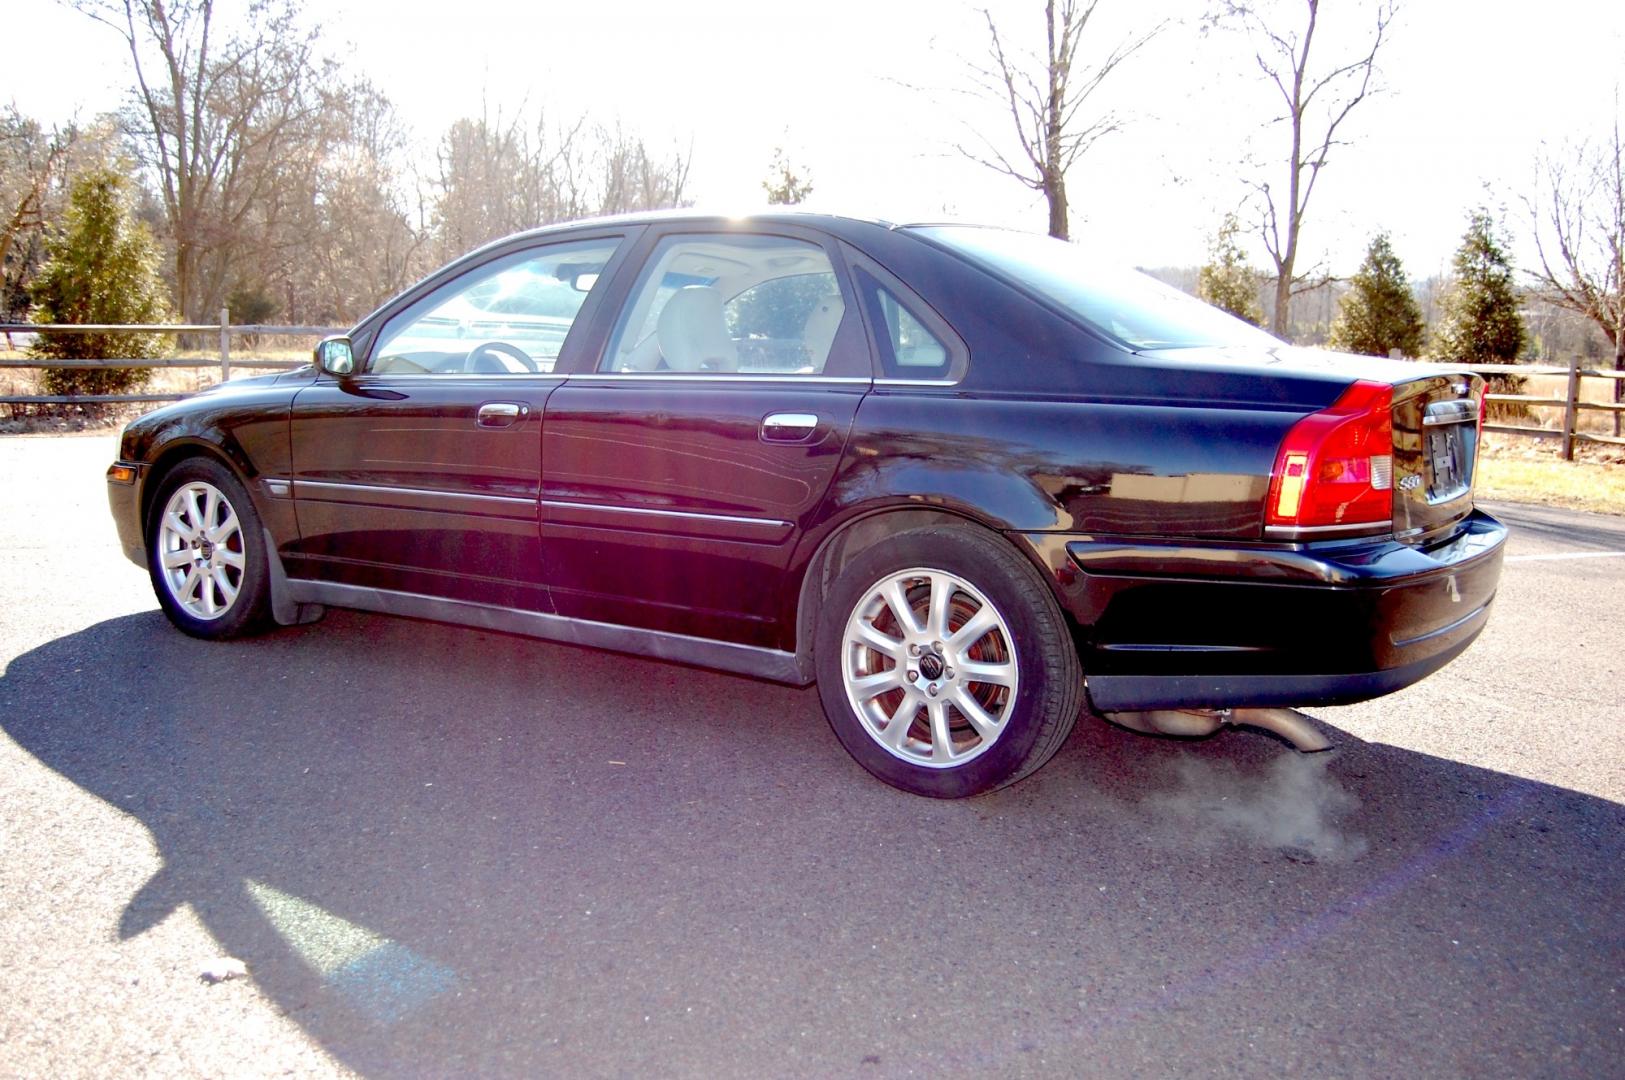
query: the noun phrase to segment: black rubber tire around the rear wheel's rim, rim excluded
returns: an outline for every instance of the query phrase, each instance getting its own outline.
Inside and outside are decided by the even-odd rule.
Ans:
[[[1050,669],[1042,643],[1046,635],[1064,632],[1064,622],[1053,611],[1053,601],[1051,611],[1032,603],[1030,586],[1045,588],[1043,583],[1037,580],[1037,572],[1022,565],[1020,555],[996,551],[998,542],[1003,541],[986,539],[968,529],[904,533],[860,554],[842,570],[824,599],[816,640],[817,690],[824,715],[847,752],[894,788],[939,799],[991,791],[1020,773],[1043,734],[1043,708],[1051,697],[1051,680],[1060,672]],[[998,741],[970,762],[951,768],[910,765],[881,747],[853,713],[842,677],[843,638],[853,607],[882,578],[912,567],[954,573],[991,601],[1009,627],[1020,672],[1016,708]],[[1020,573],[1029,575],[1029,590],[1017,585],[1016,577]],[[1066,648],[1072,648],[1071,640]]]

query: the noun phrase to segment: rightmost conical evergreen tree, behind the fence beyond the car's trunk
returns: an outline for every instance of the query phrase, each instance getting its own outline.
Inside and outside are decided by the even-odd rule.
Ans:
[[[1487,210],[1467,216],[1451,268],[1454,281],[1440,305],[1433,356],[1458,364],[1516,364],[1524,343],[1523,315],[1511,260]]]

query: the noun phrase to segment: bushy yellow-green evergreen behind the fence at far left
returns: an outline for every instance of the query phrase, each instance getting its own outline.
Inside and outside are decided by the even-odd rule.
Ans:
[[[130,218],[127,182],[112,169],[88,171],[73,182],[63,227],[46,240],[46,265],[29,284],[37,323],[158,323],[169,302],[158,279],[151,234]],[[162,335],[41,333],[29,354],[41,359],[154,359]],[[148,380],[148,369],[47,367],[46,393],[127,393]]]

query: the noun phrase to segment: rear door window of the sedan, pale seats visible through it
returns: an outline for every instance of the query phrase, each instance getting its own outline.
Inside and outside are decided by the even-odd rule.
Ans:
[[[817,244],[774,235],[661,240],[600,370],[821,375],[845,315]]]

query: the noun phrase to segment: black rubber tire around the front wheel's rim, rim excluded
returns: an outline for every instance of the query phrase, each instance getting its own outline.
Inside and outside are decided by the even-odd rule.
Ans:
[[[176,489],[202,481],[214,486],[237,515],[237,528],[242,531],[242,585],[237,599],[219,619],[198,619],[182,607],[169,591],[169,583],[162,573],[162,551],[158,533],[162,525],[164,508],[174,497]],[[158,494],[153,497],[146,520],[146,573],[153,581],[153,593],[164,616],[182,632],[197,638],[231,638],[250,633],[265,622],[266,598],[270,590],[270,567],[265,557],[265,533],[260,526],[260,513],[249,499],[247,489],[237,476],[224,464],[211,458],[192,458],[164,474]]]

